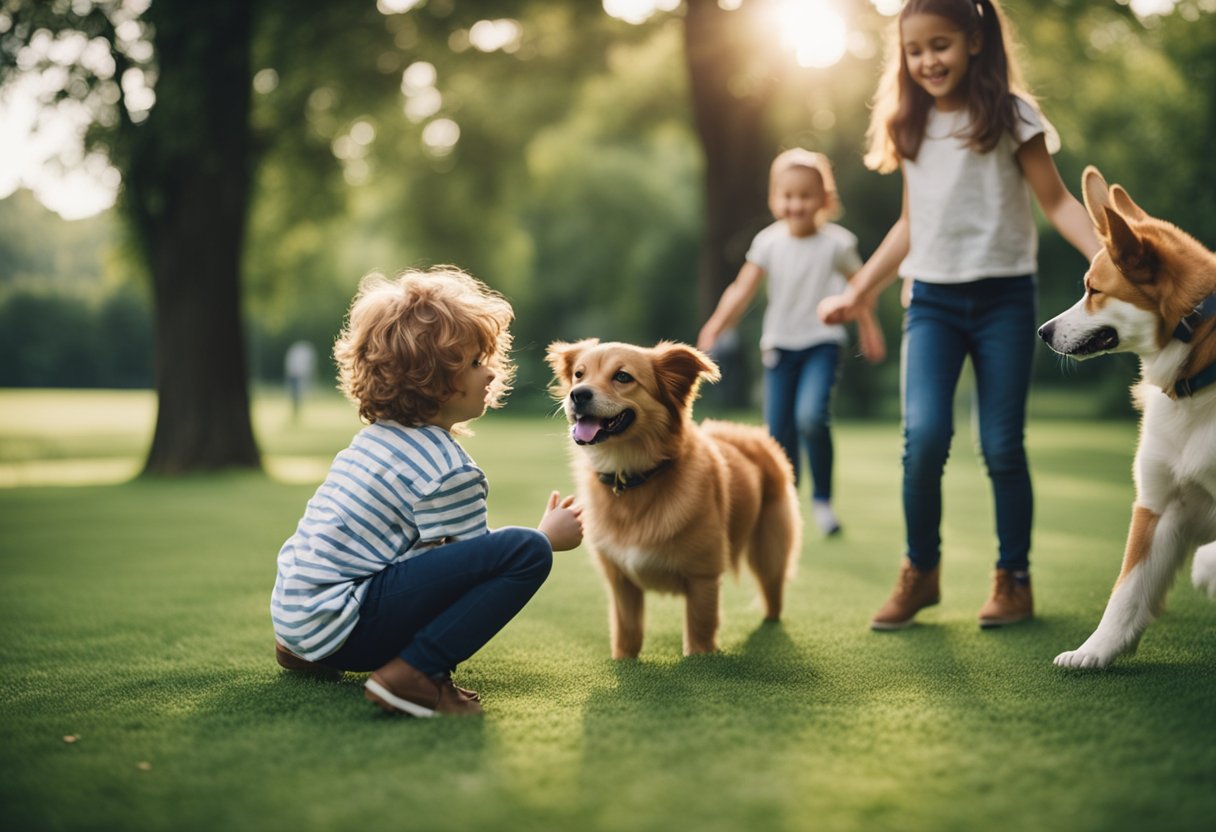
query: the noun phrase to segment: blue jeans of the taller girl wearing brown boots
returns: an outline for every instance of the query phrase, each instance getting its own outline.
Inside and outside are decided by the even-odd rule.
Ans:
[[[963,360],[975,370],[980,451],[996,504],[997,566],[1029,568],[1034,493],[1023,444],[1037,326],[1035,279],[917,281],[903,321],[903,518],[918,569],[941,560],[941,474]]]

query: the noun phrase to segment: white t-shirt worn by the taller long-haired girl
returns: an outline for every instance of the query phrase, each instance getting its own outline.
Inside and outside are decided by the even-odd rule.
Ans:
[[[911,244],[901,277],[967,283],[1036,270],[1038,231],[1014,154],[1046,128],[1029,102],[1014,99],[1014,108],[1013,135],[987,153],[959,137],[970,122],[967,108],[929,111],[916,161],[903,161]]]

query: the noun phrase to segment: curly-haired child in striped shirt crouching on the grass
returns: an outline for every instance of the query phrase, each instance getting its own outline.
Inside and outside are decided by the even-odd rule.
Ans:
[[[454,438],[510,390],[512,317],[452,268],[360,283],[333,355],[367,427],[278,552],[282,667],[371,670],[366,696],[388,712],[482,713],[452,671],[582,539],[581,508],[557,491],[539,529],[489,530],[485,474]]]

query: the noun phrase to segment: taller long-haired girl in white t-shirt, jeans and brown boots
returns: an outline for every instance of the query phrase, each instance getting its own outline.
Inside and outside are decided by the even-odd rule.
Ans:
[[[1043,119],[1019,90],[993,0],[908,0],[899,55],[876,97],[868,167],[903,172],[903,207],[824,321],[868,308],[911,279],[903,325],[903,516],[907,557],[874,630],[912,624],[940,601],[941,474],[963,360],[975,369],[980,448],[996,502],[1000,555],[980,626],[1034,615],[1032,494],[1023,445],[1035,344],[1037,236],[1030,193],[1086,258],[1099,243],[1047,150]]]

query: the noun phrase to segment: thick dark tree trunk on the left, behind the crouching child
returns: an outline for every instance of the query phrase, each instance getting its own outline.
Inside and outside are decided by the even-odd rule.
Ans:
[[[249,0],[156,0],[157,102],[131,125],[126,207],[156,304],[146,473],[260,467],[241,324],[250,187]]]

